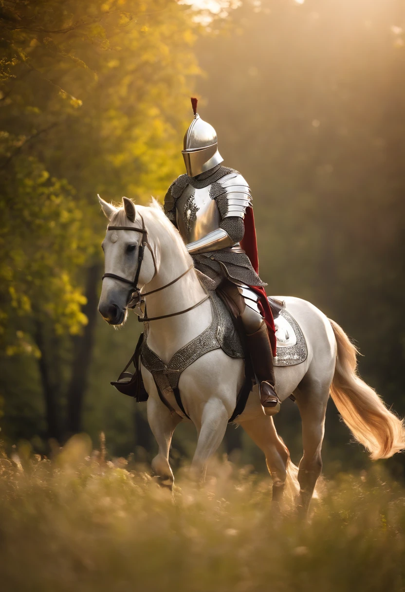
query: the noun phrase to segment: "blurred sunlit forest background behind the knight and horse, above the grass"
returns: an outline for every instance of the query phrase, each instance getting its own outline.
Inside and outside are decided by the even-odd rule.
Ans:
[[[96,199],[163,200],[198,96],[253,192],[268,293],[310,300],[405,414],[405,8],[400,0],[38,0],[0,9],[0,437],[48,453],[105,432],[148,462],[146,404],[115,391],[139,323],[97,313]],[[294,462],[297,408],[276,417]],[[327,474],[367,468],[330,401]],[[192,455],[179,426],[173,464]],[[230,426],[220,450],[265,469]],[[388,461],[403,476],[402,457]]]

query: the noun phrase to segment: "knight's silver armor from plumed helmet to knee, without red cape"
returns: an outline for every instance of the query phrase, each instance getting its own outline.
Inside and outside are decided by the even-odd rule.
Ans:
[[[188,174],[172,183],[165,197],[165,212],[194,256],[196,268],[217,285],[225,279],[236,284],[245,302],[242,320],[249,333],[253,333],[261,325],[262,317],[259,297],[249,285],[263,282],[239,244],[252,195],[239,172],[220,166],[216,131],[201,120],[195,107],[182,151]]]

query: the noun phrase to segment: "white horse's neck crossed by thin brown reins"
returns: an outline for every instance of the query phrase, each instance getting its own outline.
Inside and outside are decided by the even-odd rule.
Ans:
[[[153,280],[145,286],[145,292],[169,284],[192,265],[188,253],[169,233],[161,233],[159,242],[159,269]],[[160,317],[186,310],[203,300],[205,295],[206,292],[192,268],[174,284],[146,296],[147,317]],[[168,362],[179,348],[197,337],[210,321],[211,307],[207,301],[188,313],[151,321],[147,331],[147,343],[163,361]]]

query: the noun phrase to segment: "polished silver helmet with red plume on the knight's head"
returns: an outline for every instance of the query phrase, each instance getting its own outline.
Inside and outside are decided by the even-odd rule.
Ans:
[[[195,177],[214,168],[223,161],[218,152],[217,133],[197,113],[197,99],[191,99],[194,120],[184,136],[184,158],[187,175]]]

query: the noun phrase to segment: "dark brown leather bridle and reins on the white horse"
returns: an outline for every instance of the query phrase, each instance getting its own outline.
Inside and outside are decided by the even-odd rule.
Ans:
[[[177,278],[173,279],[171,282],[169,282],[168,284],[165,284],[164,286],[161,286],[160,288],[156,288],[154,290],[150,290],[150,292],[143,292],[143,294],[141,294],[141,288],[138,287],[138,281],[139,281],[139,274],[140,274],[140,268],[143,262],[143,256],[144,256],[144,252],[145,252],[145,247],[148,247],[148,249],[150,250],[150,254],[152,255],[152,259],[153,259],[153,266],[155,267],[155,274],[156,274],[156,261],[155,261],[155,255],[153,255],[153,250],[152,247],[150,246],[148,240],[147,240],[147,230],[145,228],[145,224],[143,221],[143,217],[142,215],[140,216],[141,220],[142,220],[142,228],[136,228],[134,226],[107,226],[107,231],[108,230],[133,230],[134,232],[139,232],[142,234],[142,241],[139,245],[139,251],[138,251],[138,266],[137,266],[137,270],[136,270],[136,274],[134,279],[127,279],[127,278],[123,278],[123,276],[121,275],[116,275],[116,274],[104,274],[102,276],[102,279],[104,278],[113,278],[113,279],[118,279],[121,282],[125,282],[126,284],[130,284],[131,286],[133,286],[134,288],[134,292],[133,294],[136,294],[137,297],[140,298],[144,298],[145,296],[148,296],[149,294],[154,294],[155,292],[160,292],[160,290],[163,290],[165,288],[168,288],[169,286],[175,284],[177,281],[179,281],[179,279],[181,279],[182,277],[184,277],[186,274],[188,274],[188,272],[190,271],[190,269],[192,269],[194,267],[194,265],[190,265],[188,269],[186,269],[185,272],[183,272],[181,275],[179,275]],[[200,306],[200,304],[203,304],[203,302],[205,302],[205,300],[208,300],[209,295],[207,294],[202,300],[200,300],[197,304],[194,304],[193,306],[186,308],[185,310],[181,310],[178,313],[172,313],[172,314],[163,314],[160,317],[137,317],[138,321],[140,323],[146,323],[147,321],[157,321],[160,318],[168,318],[168,317],[176,317],[179,314],[184,314],[184,313],[188,313],[188,311],[192,310],[193,308],[197,308],[197,306]]]

